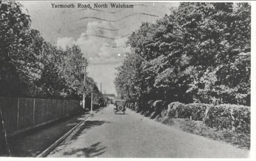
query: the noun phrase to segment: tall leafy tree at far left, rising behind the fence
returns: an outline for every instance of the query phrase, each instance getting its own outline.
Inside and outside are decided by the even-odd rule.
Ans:
[[[27,96],[33,81],[40,78],[40,64],[31,51],[30,17],[13,1],[0,4],[1,95]]]

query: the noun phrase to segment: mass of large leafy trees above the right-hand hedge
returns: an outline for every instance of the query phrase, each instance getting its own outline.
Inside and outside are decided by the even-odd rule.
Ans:
[[[142,23],[117,68],[128,101],[250,106],[249,3],[181,3],[156,23]]]

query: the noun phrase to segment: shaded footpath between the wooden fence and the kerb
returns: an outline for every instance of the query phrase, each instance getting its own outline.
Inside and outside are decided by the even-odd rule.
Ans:
[[[37,156],[87,116],[83,112],[9,138],[11,156]]]

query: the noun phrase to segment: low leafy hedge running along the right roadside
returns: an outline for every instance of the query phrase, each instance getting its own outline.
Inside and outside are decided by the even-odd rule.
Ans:
[[[250,107],[243,105],[148,101],[127,103],[126,106],[151,117],[186,118],[203,121],[211,128],[229,129],[237,133],[250,134]]]

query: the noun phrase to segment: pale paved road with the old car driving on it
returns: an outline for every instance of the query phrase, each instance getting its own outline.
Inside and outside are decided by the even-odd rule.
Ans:
[[[189,134],[113,105],[88,118],[48,157],[246,158],[249,151]]]

